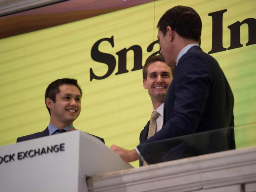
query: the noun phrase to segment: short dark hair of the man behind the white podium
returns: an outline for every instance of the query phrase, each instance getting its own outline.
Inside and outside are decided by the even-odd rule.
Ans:
[[[81,87],[78,85],[77,79],[63,78],[63,79],[57,79],[48,85],[48,87],[45,90],[45,100],[46,100],[46,98],[50,98],[55,103],[56,102],[56,94],[58,94],[60,91],[59,86],[66,85],[66,84],[75,85],[78,88],[78,90],[80,91],[80,94],[82,97],[83,91],[82,91]],[[45,105],[46,105],[46,103],[45,103]],[[48,109],[49,114],[51,115],[50,109],[47,105],[46,105],[46,108]]]

